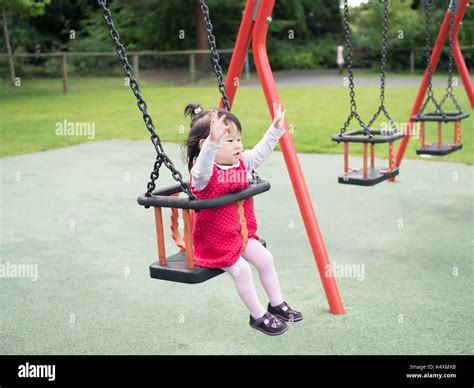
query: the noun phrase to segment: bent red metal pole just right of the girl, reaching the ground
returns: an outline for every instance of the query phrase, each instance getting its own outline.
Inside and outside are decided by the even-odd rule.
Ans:
[[[265,93],[270,114],[273,117],[273,102],[279,103],[280,98],[273,79],[272,70],[268,62],[266,49],[266,36],[268,23],[271,21],[271,14],[275,0],[262,0],[258,11],[255,29],[253,32],[253,56],[255,65]],[[303,217],[306,232],[313,250],[316,265],[321,276],[321,281],[329,302],[329,308],[333,314],[344,314],[344,306],[339,295],[336,281],[333,276],[331,264],[329,262],[324,240],[318,226],[318,221],[314,213],[311,197],[308,193],[303,171],[296,155],[293,140],[288,131],[288,123],[285,121],[285,134],[280,139],[280,145],[288,168],[291,183],[296,194],[296,199]]]

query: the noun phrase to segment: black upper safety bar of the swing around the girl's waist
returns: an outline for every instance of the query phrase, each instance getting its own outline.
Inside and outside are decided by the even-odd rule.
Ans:
[[[188,182],[186,182],[189,184]],[[270,182],[260,180],[258,183],[252,183],[249,187],[244,190],[235,191],[220,197],[211,199],[194,199],[179,198],[172,196],[183,191],[180,184],[165,187],[163,189],[155,190],[151,196],[145,194],[140,195],[137,199],[138,203],[146,208],[150,206],[154,207],[166,207],[166,208],[178,208],[178,209],[193,209],[196,211],[204,209],[214,209],[222,206],[230,205],[241,201],[243,199],[253,197],[255,195],[264,193],[270,190]]]

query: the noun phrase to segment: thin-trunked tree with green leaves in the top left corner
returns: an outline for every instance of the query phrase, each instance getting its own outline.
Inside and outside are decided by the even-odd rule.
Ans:
[[[49,2],[50,0],[0,0],[0,8],[2,9],[3,35],[8,54],[8,66],[10,67],[10,81],[12,85],[15,85],[15,64],[13,62],[10,35],[8,32],[7,15],[12,13],[24,18],[41,15],[44,12],[44,7],[46,4],[49,4]]]

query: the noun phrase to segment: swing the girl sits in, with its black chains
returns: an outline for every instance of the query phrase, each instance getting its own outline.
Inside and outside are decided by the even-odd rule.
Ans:
[[[104,19],[109,27],[110,35],[116,44],[117,52],[122,59],[125,74],[130,79],[130,86],[137,98],[139,109],[143,113],[148,131],[151,133],[151,141],[155,146],[157,157],[153,165],[153,171],[150,174],[150,182],[147,185],[147,191],[144,195],[139,196],[138,203],[146,208],[153,206],[155,209],[155,223],[158,242],[159,260],[150,266],[150,276],[155,279],[169,280],[180,283],[201,283],[209,280],[224,271],[221,269],[203,268],[194,265],[193,244],[192,244],[192,225],[193,211],[203,209],[212,209],[220,206],[227,206],[236,203],[238,206],[244,199],[261,194],[270,189],[270,184],[260,179],[255,171],[252,171],[252,181],[247,189],[242,191],[224,195],[218,198],[197,200],[192,194],[189,182],[183,180],[182,174],[175,168],[173,162],[169,159],[163,149],[161,139],[155,131],[155,127],[150,115],[147,112],[147,105],[143,100],[140,87],[137,80],[133,77],[132,70],[128,63],[125,48],[120,43],[120,36],[113,24],[112,16],[107,8],[105,1],[99,1],[102,6]],[[211,47],[214,69],[219,85],[219,91],[226,110],[230,110],[230,104],[226,95],[226,87],[223,83],[222,69],[219,65],[219,54],[217,52],[216,40],[212,35],[212,24],[209,17],[209,9],[203,0],[201,0],[201,9],[206,23],[208,32],[209,45]],[[173,178],[179,184],[167,187],[161,190],[155,190],[156,180],[160,174],[160,168],[164,164],[172,173]],[[187,198],[179,198],[180,193],[185,193]],[[163,215],[162,208],[171,209],[171,231],[179,252],[170,257],[166,257]],[[184,237],[181,236],[178,228],[178,209],[182,210],[184,221]]]

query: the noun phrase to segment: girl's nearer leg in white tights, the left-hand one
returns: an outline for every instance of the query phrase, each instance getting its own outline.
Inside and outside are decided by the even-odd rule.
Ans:
[[[235,288],[237,293],[244,302],[245,306],[250,312],[250,315],[254,319],[258,319],[265,314],[266,310],[261,305],[255,291],[253,284],[252,270],[250,269],[249,263],[247,263],[242,257],[230,267],[223,268],[232,279],[234,279]]]

